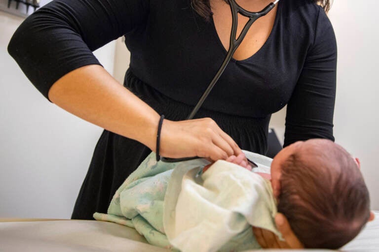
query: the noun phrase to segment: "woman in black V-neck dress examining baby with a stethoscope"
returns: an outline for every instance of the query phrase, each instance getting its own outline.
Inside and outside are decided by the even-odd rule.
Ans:
[[[270,1],[237,2],[259,11]],[[54,0],[29,16],[9,43],[11,56],[51,102],[105,128],[72,218],[107,211],[115,190],[155,151],[161,114],[160,154],[170,158],[265,154],[270,116],[286,104],[285,146],[334,140],[337,46],[317,2],[329,7],[329,0],[280,0],[258,19],[195,120],[185,119],[228,49],[225,1]],[[237,34],[246,18],[238,23]],[[131,52],[124,87],[91,52],[122,35]]]

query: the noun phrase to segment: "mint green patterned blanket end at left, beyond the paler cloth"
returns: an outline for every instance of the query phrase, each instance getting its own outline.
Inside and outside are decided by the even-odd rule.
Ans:
[[[115,192],[108,214],[95,213],[98,221],[135,228],[155,246],[172,249],[163,229],[163,200],[172,169],[178,163],[156,162],[151,153]]]

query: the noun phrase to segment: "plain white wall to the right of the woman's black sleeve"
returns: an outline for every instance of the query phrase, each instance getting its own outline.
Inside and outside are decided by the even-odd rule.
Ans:
[[[372,208],[379,210],[379,1],[335,0],[338,44],[335,137],[360,158]]]

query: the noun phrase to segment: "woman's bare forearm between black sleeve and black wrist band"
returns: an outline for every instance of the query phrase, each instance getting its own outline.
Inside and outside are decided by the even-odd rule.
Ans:
[[[77,117],[155,151],[159,115],[102,66],[87,65],[69,72],[54,83],[48,96]]]

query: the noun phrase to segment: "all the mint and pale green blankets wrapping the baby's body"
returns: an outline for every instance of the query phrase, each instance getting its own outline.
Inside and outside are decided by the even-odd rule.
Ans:
[[[248,152],[245,154],[259,163],[257,169],[261,169],[261,172],[269,170],[270,158]],[[202,174],[202,168],[206,164],[209,162],[203,158],[179,163],[156,162],[155,154],[152,153],[116,191],[108,214],[95,213],[94,218],[133,227],[152,245],[178,250],[172,245],[175,244],[184,252],[229,252],[260,248],[253,235],[252,224],[279,234],[273,225],[276,206],[272,191],[262,177],[222,160]],[[215,179],[217,176],[219,177]],[[244,178],[247,178],[245,185],[238,187],[239,192],[233,194],[233,191],[227,191],[233,183]],[[218,186],[219,181],[224,184]],[[183,187],[182,184],[190,186]],[[254,191],[257,191],[255,199],[247,197]],[[228,200],[229,196],[240,197],[240,200],[232,204]],[[218,198],[218,201],[215,202],[212,198]],[[190,217],[191,215],[187,218],[186,208],[192,212],[197,209],[200,214],[197,218]],[[222,209],[218,211],[220,208]],[[209,217],[205,214],[201,217],[201,213],[208,211],[209,215],[215,210],[219,212],[219,219],[214,222],[206,220]],[[258,215],[254,215],[256,210]],[[226,225],[219,225],[220,220],[225,218],[230,220],[226,221]],[[195,219],[197,222],[192,223]],[[184,229],[178,232],[180,228]],[[198,232],[196,228],[203,231]],[[189,239],[191,242],[186,242]]]

